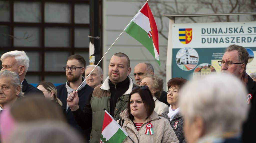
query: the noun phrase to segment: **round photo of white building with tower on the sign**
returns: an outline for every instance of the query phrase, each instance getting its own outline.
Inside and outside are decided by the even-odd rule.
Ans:
[[[193,48],[182,48],[176,54],[176,63],[182,70],[194,69],[198,61],[198,53]]]

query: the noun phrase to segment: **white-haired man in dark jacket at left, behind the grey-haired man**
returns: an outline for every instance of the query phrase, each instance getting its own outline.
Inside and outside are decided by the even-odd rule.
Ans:
[[[25,79],[28,71],[29,58],[24,51],[10,51],[1,56],[2,69],[16,72],[19,75],[20,82],[23,86],[22,92],[26,95],[41,95],[42,91],[29,84]]]

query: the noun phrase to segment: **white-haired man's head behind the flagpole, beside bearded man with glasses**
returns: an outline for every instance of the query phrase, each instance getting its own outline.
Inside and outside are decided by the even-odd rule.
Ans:
[[[90,74],[92,69],[96,65],[88,65],[85,69],[85,78]],[[97,66],[91,73],[91,75],[86,79],[86,84],[90,85],[92,88],[95,88],[96,86],[102,84],[103,80],[103,71],[100,66]]]

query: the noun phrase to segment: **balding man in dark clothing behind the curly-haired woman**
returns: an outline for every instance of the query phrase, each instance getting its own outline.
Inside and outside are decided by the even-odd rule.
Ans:
[[[146,73],[154,75],[154,68],[150,63],[138,63],[134,67],[133,75],[137,85],[141,84],[142,77]],[[167,102],[167,92],[163,91],[158,100],[170,106],[170,104]]]

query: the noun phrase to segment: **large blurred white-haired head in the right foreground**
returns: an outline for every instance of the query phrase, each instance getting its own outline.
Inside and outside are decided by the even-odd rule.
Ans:
[[[246,95],[241,81],[227,74],[210,75],[185,84],[179,105],[187,142],[236,136],[247,117]]]

